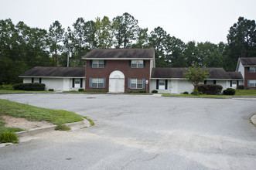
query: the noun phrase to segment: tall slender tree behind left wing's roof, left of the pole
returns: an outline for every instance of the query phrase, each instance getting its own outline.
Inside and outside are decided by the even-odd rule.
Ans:
[[[63,41],[63,34],[65,29],[62,29],[59,21],[53,22],[53,25],[49,26],[48,32],[48,45],[49,45],[49,52],[55,58],[55,66],[58,65],[58,55],[63,49],[61,42]]]

